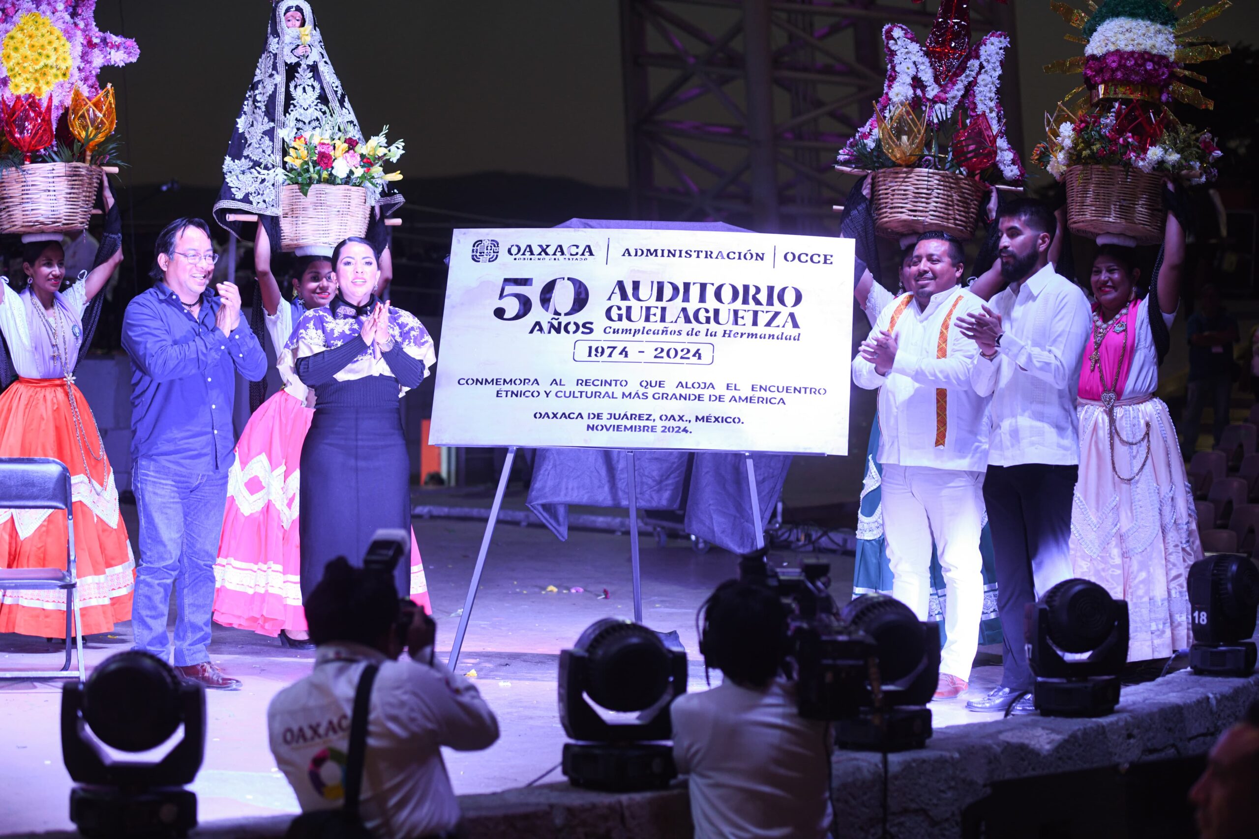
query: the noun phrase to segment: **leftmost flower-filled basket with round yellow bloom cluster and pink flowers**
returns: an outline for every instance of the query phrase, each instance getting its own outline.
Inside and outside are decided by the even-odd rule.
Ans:
[[[96,26],[96,0],[9,0],[0,5],[0,231],[87,226],[99,166],[117,164],[112,87],[101,67],[136,60],[136,43]],[[73,141],[58,143],[65,116]],[[20,171],[14,171],[20,170]]]

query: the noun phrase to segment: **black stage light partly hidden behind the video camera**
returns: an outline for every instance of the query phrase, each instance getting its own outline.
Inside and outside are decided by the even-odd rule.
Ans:
[[[854,751],[922,748],[932,736],[932,701],[940,672],[939,628],[880,594],[849,603],[840,620],[874,642],[874,663],[852,717],[835,723],[835,742]]]

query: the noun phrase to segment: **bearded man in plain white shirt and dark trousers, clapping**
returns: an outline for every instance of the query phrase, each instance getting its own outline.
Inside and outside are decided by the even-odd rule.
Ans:
[[[1008,286],[959,325],[980,345],[974,389],[992,394],[983,498],[1005,655],[1001,686],[966,707],[1034,713],[1024,610],[1073,576],[1068,545],[1080,459],[1075,392],[1093,316],[1084,292],[1049,262],[1058,230],[1049,208],[1012,201],[997,225]]]

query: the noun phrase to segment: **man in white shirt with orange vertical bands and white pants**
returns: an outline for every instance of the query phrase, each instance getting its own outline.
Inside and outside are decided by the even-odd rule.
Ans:
[[[928,620],[933,540],[944,574],[944,649],[937,699],[963,693],[983,611],[980,533],[987,404],[971,375],[980,350],[957,326],[983,302],[962,288],[962,245],[919,236],[913,293],[889,303],[852,360],[852,381],[879,389],[879,462],[891,592]]]

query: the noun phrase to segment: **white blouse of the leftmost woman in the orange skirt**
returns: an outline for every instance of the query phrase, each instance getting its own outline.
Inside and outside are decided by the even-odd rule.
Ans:
[[[79,279],[64,292],[53,294],[53,311],[44,313],[39,299],[29,289],[13,291],[9,281],[0,277],[4,302],[0,303],[0,332],[9,345],[14,370],[23,379],[62,379],[73,372],[83,341],[83,311],[87,308],[87,283]],[[53,358],[55,327],[57,355]],[[69,370],[64,367],[68,358]]]

